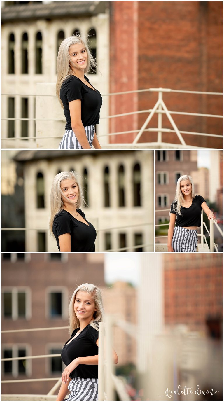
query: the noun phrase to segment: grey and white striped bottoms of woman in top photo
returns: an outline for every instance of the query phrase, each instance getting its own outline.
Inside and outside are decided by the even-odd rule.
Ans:
[[[86,131],[86,137],[88,139],[88,143],[92,148],[92,141],[95,133],[95,126],[86,126],[84,127]],[[62,141],[60,142],[59,148],[60,150],[82,150],[82,146],[79,144],[78,139],[76,138],[73,130],[67,130],[64,133]]]

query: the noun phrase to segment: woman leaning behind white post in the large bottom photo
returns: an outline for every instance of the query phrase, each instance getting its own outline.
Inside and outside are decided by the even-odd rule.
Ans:
[[[100,289],[84,283],[74,291],[69,305],[70,339],[62,349],[66,365],[57,401],[98,400],[99,322],[103,321],[103,301]],[[117,363],[117,354],[114,362]]]

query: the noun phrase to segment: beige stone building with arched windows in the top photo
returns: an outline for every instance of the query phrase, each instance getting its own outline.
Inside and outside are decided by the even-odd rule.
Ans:
[[[60,43],[76,32],[91,35],[90,47],[98,68],[88,78],[101,94],[109,93],[107,2],[1,2],[1,5],[2,148],[57,149],[65,128],[63,109],[55,96]],[[108,115],[106,96],[101,116]],[[97,134],[106,133],[104,119]],[[101,144],[106,142],[107,137],[103,136]]]

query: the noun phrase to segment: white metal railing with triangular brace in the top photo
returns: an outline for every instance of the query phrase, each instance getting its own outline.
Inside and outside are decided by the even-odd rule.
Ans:
[[[198,135],[198,136],[209,136],[209,137],[219,137],[222,138],[222,135],[219,134],[210,134],[210,133],[199,133],[195,131],[181,131],[177,128],[177,125],[175,124],[173,117],[171,115],[186,115],[186,116],[197,116],[197,117],[213,117],[213,118],[222,118],[222,115],[212,115],[212,114],[206,114],[206,113],[190,113],[190,112],[178,112],[178,111],[171,111],[168,110],[163,99],[162,99],[162,94],[165,93],[183,93],[183,94],[199,94],[199,95],[212,95],[212,96],[222,96],[222,93],[220,92],[201,92],[201,91],[187,91],[187,90],[173,90],[170,88],[147,88],[147,89],[142,89],[142,90],[133,90],[133,91],[123,91],[123,92],[114,92],[114,93],[109,93],[109,94],[103,94],[102,96],[113,96],[113,95],[120,95],[120,94],[132,94],[132,93],[139,93],[139,92],[158,92],[158,100],[156,104],[154,105],[153,109],[147,109],[147,110],[142,110],[142,111],[133,111],[133,112],[128,112],[128,113],[120,113],[117,115],[111,115],[111,116],[104,116],[101,117],[101,119],[112,119],[115,117],[123,117],[123,116],[129,116],[129,115],[136,115],[139,113],[149,113],[148,117],[146,118],[144,124],[140,129],[136,130],[129,130],[129,131],[120,131],[117,133],[107,133],[107,134],[102,134],[99,135],[99,137],[105,137],[105,136],[111,136],[111,135],[121,135],[121,134],[126,134],[126,133],[137,133],[135,139],[133,140],[132,144],[135,145],[138,143],[140,137],[145,131],[149,132],[155,132],[157,131],[157,143],[156,144],[162,144],[162,133],[176,133],[180,143],[182,146],[187,146],[185,143],[185,140],[183,139],[182,134],[190,134],[190,135]],[[4,96],[21,96],[21,94],[3,94]],[[29,95],[24,95],[23,96],[37,96],[33,94]],[[53,96],[55,95],[41,95],[41,96]],[[157,127],[153,128],[146,128],[152,117],[158,114],[158,124]],[[168,118],[169,122],[171,123],[172,129],[166,129],[162,128],[162,115],[166,115]],[[2,120],[21,120],[21,121],[65,121],[65,118],[61,119],[25,119],[25,118],[3,118]],[[52,138],[51,136],[41,136],[41,139],[47,139],[47,138]],[[54,138],[61,138],[61,135],[56,135]],[[11,138],[2,138],[3,140],[18,140],[18,139],[37,139],[37,137],[32,136],[32,137],[11,137]],[[190,146],[190,144],[189,144]]]

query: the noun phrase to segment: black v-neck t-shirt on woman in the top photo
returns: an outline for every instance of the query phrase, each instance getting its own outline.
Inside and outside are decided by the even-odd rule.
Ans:
[[[84,78],[89,82],[86,76]],[[100,92],[92,88],[89,88],[78,77],[73,75],[62,82],[60,98],[64,106],[66,130],[72,130],[68,103],[76,99],[81,99],[81,119],[84,127],[99,124],[103,99]]]

